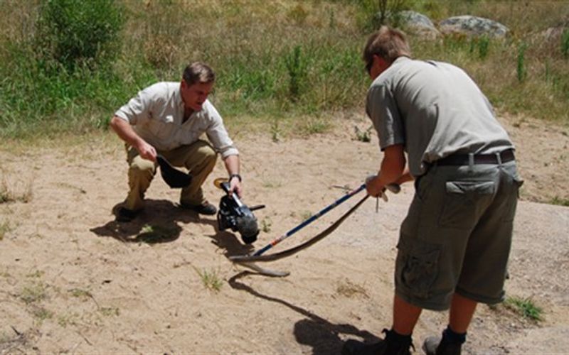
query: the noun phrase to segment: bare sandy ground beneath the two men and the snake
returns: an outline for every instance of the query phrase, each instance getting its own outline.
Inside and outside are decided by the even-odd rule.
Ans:
[[[569,353],[569,199],[566,129],[502,118],[526,179],[515,222],[508,295],[543,308],[541,322],[504,306],[481,305],[466,354]],[[373,341],[390,326],[398,226],[413,188],[367,200],[333,234],[255,275],[227,256],[248,253],[357,187],[378,168],[376,137],[355,141],[348,117],[329,133],[275,143],[240,133],[243,200],[266,204],[254,246],[218,231],[215,217],[176,207],[178,192],[156,177],[142,217],[117,224],[127,166],[111,133],[39,148],[0,143],[0,354],[337,354],[345,339]],[[205,185],[211,202],[223,195]],[[275,246],[317,234],[363,193]],[[218,282],[206,287],[205,280]],[[211,284],[210,284],[211,285]],[[446,312],[424,312],[413,334],[445,327]]]

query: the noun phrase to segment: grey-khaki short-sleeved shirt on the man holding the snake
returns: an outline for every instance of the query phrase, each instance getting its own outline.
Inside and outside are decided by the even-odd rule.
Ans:
[[[403,144],[415,177],[447,155],[514,148],[477,84],[445,62],[398,58],[373,80],[366,111],[381,150]]]

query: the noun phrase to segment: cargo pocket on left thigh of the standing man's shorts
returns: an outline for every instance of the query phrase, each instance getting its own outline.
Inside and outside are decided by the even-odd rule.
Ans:
[[[395,265],[395,284],[413,298],[431,297],[439,273],[441,246],[425,241],[400,240]]]

